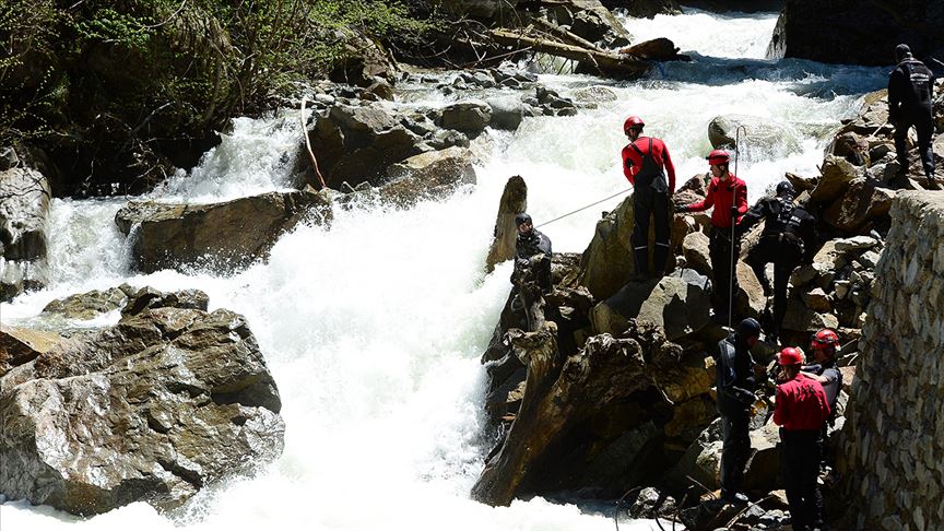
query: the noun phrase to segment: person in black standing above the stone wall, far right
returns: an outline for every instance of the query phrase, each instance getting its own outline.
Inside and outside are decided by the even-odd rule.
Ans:
[[[895,47],[898,66],[888,75],[888,121],[895,126],[895,153],[901,165],[899,176],[908,175],[908,148],[905,140],[908,129],[914,126],[918,131],[918,152],[928,185],[934,184],[934,152],[931,149],[931,134],[934,132],[934,118],[931,110],[934,74],[923,62],[911,57],[908,45]]]

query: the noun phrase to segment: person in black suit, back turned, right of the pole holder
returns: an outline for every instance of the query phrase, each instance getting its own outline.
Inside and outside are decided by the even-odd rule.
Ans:
[[[764,233],[760,241],[747,252],[747,262],[764,287],[764,295],[774,294],[774,326],[767,341],[776,341],[787,315],[787,281],[793,270],[809,261],[815,251],[816,220],[802,206],[793,204],[793,186],[777,185],[777,196],[757,201],[738,225],[744,234],[760,220]],[[767,264],[774,262],[774,287],[767,279]]]

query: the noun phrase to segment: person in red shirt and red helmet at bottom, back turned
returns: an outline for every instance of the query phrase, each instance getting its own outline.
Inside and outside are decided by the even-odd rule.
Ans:
[[[794,530],[809,531],[823,521],[823,496],[816,479],[829,402],[823,386],[800,371],[802,363],[803,355],[796,349],[780,351],[774,422],[780,426],[780,463],[791,523]]]

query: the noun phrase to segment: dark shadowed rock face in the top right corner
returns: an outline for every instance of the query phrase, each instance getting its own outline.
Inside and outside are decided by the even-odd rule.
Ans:
[[[788,0],[767,56],[894,64],[894,49],[899,43],[908,43],[914,57],[940,57],[944,51],[942,31],[942,0]]]

